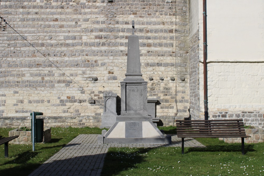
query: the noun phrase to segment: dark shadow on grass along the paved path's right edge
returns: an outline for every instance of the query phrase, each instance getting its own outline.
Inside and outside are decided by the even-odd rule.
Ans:
[[[144,155],[150,148],[140,148],[134,153],[126,151],[112,151],[109,149],[106,154],[101,176],[118,175],[120,172],[134,168],[136,164],[144,162]],[[127,149],[128,150],[128,149]],[[139,155],[142,154],[142,155]]]

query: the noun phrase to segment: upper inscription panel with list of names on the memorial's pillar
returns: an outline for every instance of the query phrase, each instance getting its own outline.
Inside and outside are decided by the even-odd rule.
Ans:
[[[143,111],[143,89],[142,85],[126,86],[126,110]]]

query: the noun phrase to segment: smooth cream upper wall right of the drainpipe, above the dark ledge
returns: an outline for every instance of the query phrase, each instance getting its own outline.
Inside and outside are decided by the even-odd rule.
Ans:
[[[264,1],[207,1],[208,61],[264,61]]]

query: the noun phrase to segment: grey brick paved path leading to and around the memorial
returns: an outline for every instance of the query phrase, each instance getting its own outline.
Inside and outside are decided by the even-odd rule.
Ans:
[[[97,136],[78,135],[29,176],[99,176],[110,147],[181,147],[181,138],[176,135],[172,136],[172,144],[97,144]],[[204,147],[191,138],[185,139],[184,146]]]

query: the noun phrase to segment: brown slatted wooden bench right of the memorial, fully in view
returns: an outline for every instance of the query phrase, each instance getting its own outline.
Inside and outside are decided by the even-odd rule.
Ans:
[[[182,138],[182,154],[184,154],[184,138],[186,137],[241,137],[242,155],[244,155],[244,138],[247,136],[242,119],[232,120],[176,120],[177,136]]]

